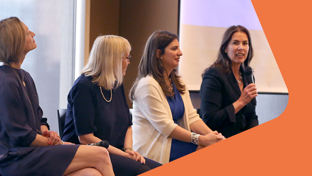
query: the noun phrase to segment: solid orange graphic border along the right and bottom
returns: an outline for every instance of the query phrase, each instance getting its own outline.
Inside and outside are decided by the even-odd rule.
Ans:
[[[142,176],[311,174],[311,2],[252,4],[288,88],[284,113]]]

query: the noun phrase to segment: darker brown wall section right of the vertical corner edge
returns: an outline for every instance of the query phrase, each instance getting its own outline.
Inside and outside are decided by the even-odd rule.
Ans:
[[[138,73],[143,48],[155,30],[178,33],[178,0],[122,0],[120,1],[119,35],[132,44],[131,63],[124,77],[124,89],[128,95]],[[128,99],[129,107],[132,103]]]

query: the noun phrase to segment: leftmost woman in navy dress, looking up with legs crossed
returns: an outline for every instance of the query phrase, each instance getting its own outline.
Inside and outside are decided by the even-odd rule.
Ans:
[[[62,145],[71,143],[49,131],[32,77],[21,69],[25,55],[37,47],[34,36],[16,17],[0,22],[1,175],[114,175],[105,148]]]

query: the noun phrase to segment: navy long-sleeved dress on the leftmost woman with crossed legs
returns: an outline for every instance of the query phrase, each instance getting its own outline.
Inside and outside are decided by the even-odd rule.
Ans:
[[[13,69],[24,77],[26,87]],[[0,173],[2,176],[61,176],[79,145],[29,147],[36,135],[41,134],[37,131],[40,125],[48,128],[49,125],[42,118],[32,77],[22,69],[13,69],[0,66]]]

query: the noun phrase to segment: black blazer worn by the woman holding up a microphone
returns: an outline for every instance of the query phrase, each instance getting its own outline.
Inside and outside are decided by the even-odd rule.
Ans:
[[[245,88],[247,79],[241,69]],[[234,103],[241,96],[232,69],[230,73],[222,72],[220,67],[209,68],[200,88],[201,118],[213,131],[217,130],[226,138],[259,125],[256,106],[249,102],[235,114]]]

